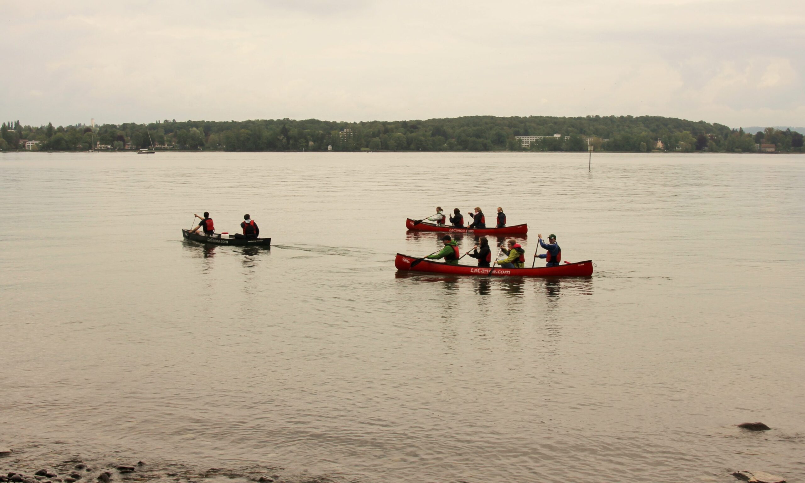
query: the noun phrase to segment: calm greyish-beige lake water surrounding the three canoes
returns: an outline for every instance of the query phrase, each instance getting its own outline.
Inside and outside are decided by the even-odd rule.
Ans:
[[[398,274],[437,204],[596,272]],[[184,242],[204,210],[274,246]],[[0,226],[15,464],[805,481],[805,156],[5,154]]]

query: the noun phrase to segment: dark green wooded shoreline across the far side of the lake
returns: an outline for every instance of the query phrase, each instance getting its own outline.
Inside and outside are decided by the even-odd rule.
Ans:
[[[150,147],[209,151],[803,151],[803,134],[745,133],[720,124],[658,116],[464,118],[394,122],[186,121],[90,126],[4,122],[0,150],[89,151]],[[560,136],[555,137],[555,134]],[[546,136],[523,147],[517,136]],[[23,141],[24,140],[24,141]],[[659,141],[659,142],[658,142]],[[766,151],[770,151],[769,146]]]

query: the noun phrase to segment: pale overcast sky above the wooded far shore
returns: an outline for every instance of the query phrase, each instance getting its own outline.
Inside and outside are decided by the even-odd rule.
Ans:
[[[651,114],[805,125],[803,0],[0,7],[0,120],[24,124]]]

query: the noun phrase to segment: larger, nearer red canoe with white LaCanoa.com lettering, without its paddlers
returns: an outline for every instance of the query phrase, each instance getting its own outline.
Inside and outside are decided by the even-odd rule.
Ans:
[[[413,270],[451,275],[489,275],[489,270],[492,270],[489,267],[448,265],[444,262],[433,262],[432,260],[423,260],[417,263],[414,268],[411,268],[411,262],[414,262],[416,259],[416,257],[397,254],[397,258],[394,258],[394,266],[397,267],[397,270]],[[536,268],[501,268],[497,266],[492,272],[492,276],[496,275],[510,277],[589,277],[592,275],[592,260],[566,263],[559,266],[539,266]]]

